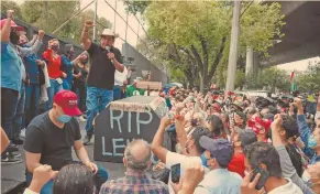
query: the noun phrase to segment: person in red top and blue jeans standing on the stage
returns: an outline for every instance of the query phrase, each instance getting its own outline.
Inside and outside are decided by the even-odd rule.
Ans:
[[[43,53],[43,57],[47,64],[47,73],[49,77],[49,87],[47,88],[48,101],[46,110],[49,110],[53,105],[53,97],[56,93],[63,89],[63,79],[67,75],[60,71],[62,57],[57,54],[59,41],[53,39],[48,42],[48,48]]]

